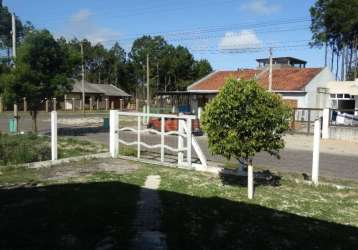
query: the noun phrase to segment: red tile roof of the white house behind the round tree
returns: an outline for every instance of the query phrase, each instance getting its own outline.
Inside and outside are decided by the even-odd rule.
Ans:
[[[322,71],[322,68],[281,68],[272,71],[272,89],[276,91],[299,91]],[[189,86],[189,90],[219,90],[225,80],[252,79],[255,76],[261,86],[268,88],[268,71],[243,69],[238,71],[217,71]]]

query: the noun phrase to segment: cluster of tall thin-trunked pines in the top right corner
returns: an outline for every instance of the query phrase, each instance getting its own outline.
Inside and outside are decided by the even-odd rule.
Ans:
[[[358,62],[354,61],[358,47],[357,13],[358,0],[317,0],[310,9],[313,33],[311,45],[325,45],[331,49],[331,70],[333,71],[336,64],[337,78],[339,68],[341,78],[345,78],[357,68]],[[326,49],[326,65],[327,51]]]

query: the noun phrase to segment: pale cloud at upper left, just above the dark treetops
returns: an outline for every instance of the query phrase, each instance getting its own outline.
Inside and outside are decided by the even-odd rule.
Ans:
[[[88,39],[92,43],[106,43],[108,40],[117,40],[120,33],[109,28],[98,26],[94,14],[88,9],[81,9],[73,14],[63,29],[62,35],[66,38],[76,37],[80,40]]]

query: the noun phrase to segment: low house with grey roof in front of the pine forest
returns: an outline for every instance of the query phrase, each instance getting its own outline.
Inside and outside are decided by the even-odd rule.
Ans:
[[[85,81],[85,105],[100,105],[101,107],[111,105],[113,108],[120,107],[120,100],[128,100],[130,95],[112,84],[95,84]],[[75,81],[70,94],[65,96],[65,109],[72,110],[73,105],[79,108],[82,104],[82,82]],[[107,102],[107,104],[106,104]]]

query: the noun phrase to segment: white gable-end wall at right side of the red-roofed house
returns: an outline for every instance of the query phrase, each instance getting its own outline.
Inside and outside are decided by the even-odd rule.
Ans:
[[[329,81],[334,81],[335,77],[332,72],[326,67],[319,74],[317,74],[309,84],[306,85],[305,91],[307,92],[305,100],[305,108],[325,108],[329,106],[329,98],[326,96],[325,107],[322,107],[317,100],[324,98],[324,95],[318,97],[317,88],[327,88]]]

